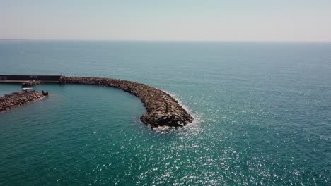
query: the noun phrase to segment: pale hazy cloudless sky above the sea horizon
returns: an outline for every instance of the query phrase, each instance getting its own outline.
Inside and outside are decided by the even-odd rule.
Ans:
[[[0,39],[331,42],[331,0],[0,0]]]

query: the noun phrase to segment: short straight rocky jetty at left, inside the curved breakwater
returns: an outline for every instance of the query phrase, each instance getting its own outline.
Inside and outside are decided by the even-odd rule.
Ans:
[[[14,92],[11,94],[6,94],[4,97],[0,97],[0,112],[37,101],[44,97],[45,96],[43,96],[42,93],[34,90],[29,92]]]

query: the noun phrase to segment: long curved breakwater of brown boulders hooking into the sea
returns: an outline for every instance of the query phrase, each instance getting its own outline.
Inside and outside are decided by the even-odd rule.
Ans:
[[[100,77],[62,76],[59,83],[115,87],[134,94],[141,99],[147,110],[147,113],[141,116],[140,120],[151,127],[182,127],[193,121],[192,116],[169,94],[138,82]]]

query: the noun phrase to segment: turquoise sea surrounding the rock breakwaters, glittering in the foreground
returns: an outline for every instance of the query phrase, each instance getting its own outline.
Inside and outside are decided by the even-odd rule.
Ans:
[[[0,113],[0,185],[330,185],[331,44],[0,42],[0,66],[143,82],[196,119],[154,131],[127,92],[38,85]]]

